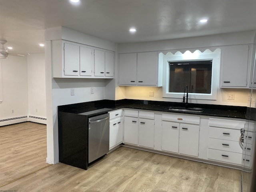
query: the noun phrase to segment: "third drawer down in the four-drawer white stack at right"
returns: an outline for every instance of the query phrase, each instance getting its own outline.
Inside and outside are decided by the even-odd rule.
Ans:
[[[209,138],[208,148],[242,153],[242,149],[238,141]]]

